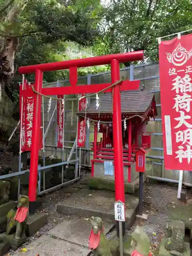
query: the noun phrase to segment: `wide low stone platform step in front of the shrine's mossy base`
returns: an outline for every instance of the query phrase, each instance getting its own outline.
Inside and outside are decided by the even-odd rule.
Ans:
[[[57,211],[62,215],[75,215],[90,218],[98,216],[103,221],[114,223],[115,194],[109,191],[94,191],[91,189],[79,189],[60,204]],[[132,195],[125,195],[126,226],[130,228],[136,218],[139,199]]]

